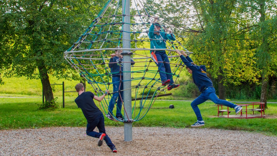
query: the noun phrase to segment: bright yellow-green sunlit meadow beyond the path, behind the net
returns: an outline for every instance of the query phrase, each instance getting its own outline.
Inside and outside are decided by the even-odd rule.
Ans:
[[[140,45],[139,48],[144,48],[144,47],[150,47],[149,43],[145,43],[144,45]],[[145,56],[150,57],[150,51],[149,50],[139,50],[139,51],[135,51],[134,53],[139,54],[139,55],[132,55],[132,57],[135,58],[142,58]],[[176,53],[172,53],[172,55],[176,55]],[[176,59],[176,58],[175,58]],[[134,71],[140,71],[140,70],[145,70],[147,67],[144,66],[148,66],[149,65],[149,61],[151,59],[134,59],[134,61],[136,62],[134,66],[140,66],[140,67],[132,67],[131,70]],[[109,60],[106,60],[106,62],[108,62]],[[174,61],[171,61],[172,63],[174,63]],[[69,64],[68,64],[69,65]],[[171,65],[171,66],[175,66],[175,65]],[[171,67],[171,70],[173,71],[175,69],[175,67]],[[150,67],[148,67],[148,70],[151,70],[146,72],[145,77],[148,78],[155,78],[158,79],[160,78],[159,73],[157,73],[158,67],[156,66],[156,64],[154,62],[150,63]],[[76,73],[78,73],[77,71],[75,71]],[[131,73],[131,77],[132,78],[139,78],[142,77],[144,73]],[[176,74],[179,74],[179,70],[176,71]],[[35,79],[27,79],[25,76],[22,76],[20,78],[5,78],[3,77],[3,75],[1,75],[2,80],[4,81],[4,85],[0,85],[0,96],[31,96],[31,97],[38,97],[38,96],[42,96],[42,84],[40,80],[35,80]],[[185,76],[184,71],[182,71],[180,73],[180,78],[178,79],[182,79],[182,78],[186,78],[187,76]],[[176,76],[173,77],[173,80],[176,79]],[[177,82],[178,82],[177,79]],[[70,80],[65,80],[65,79],[60,79],[58,80],[57,78],[49,75],[49,80],[50,80],[50,84],[61,84],[63,81],[65,82],[65,91],[75,91],[74,86],[79,83],[79,81],[70,81]],[[109,81],[111,81],[111,76],[109,76]],[[147,85],[147,82],[149,82],[151,80],[142,80],[140,82],[140,80],[132,80],[132,85],[138,85],[139,83],[141,85]],[[152,82],[153,83],[153,82]],[[155,84],[156,87],[160,86],[161,83],[157,82]],[[101,89],[105,90],[105,86],[104,85],[99,85],[101,87]],[[54,97],[60,97],[62,96],[62,85],[53,85],[53,95]],[[107,87],[107,86],[106,86]],[[165,89],[165,86],[162,86],[163,89]],[[93,87],[91,85],[87,84],[87,90],[88,91],[93,91]],[[112,85],[109,86],[109,90],[112,91]],[[132,89],[132,95],[135,95],[135,89]],[[167,93],[172,93],[173,90],[171,91],[167,91],[167,89],[165,89]],[[143,91],[143,88],[139,89],[140,92]],[[76,96],[75,93],[65,93],[66,97],[74,97]]]

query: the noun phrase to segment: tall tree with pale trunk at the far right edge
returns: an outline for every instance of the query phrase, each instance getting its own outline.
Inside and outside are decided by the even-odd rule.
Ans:
[[[257,0],[253,1],[252,11],[254,18],[258,17],[257,27],[253,30],[254,33],[253,40],[258,43],[257,47],[257,63],[261,70],[261,98],[260,102],[265,103],[268,94],[268,76],[271,74],[276,74],[274,68],[276,62],[273,57],[276,56],[276,32],[277,32],[277,7],[275,0]],[[258,12],[258,15],[257,15]],[[274,65],[275,64],[275,65]]]

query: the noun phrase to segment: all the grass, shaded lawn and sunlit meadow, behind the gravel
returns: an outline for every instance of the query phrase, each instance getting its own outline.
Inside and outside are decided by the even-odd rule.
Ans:
[[[148,52],[140,52],[142,55],[149,55]],[[135,56],[134,57],[141,57]],[[144,66],[148,65],[145,60],[135,60],[135,65]],[[149,59],[148,59],[149,61]],[[152,62],[152,65],[155,65]],[[144,67],[139,67],[140,70],[145,70]],[[150,70],[157,70],[157,67],[150,67]],[[173,69],[173,68],[171,68]],[[167,100],[193,100],[194,97],[189,95],[191,90],[188,87],[195,87],[193,83],[186,85],[189,77],[185,74],[186,71],[180,73],[180,78],[177,83],[181,82],[182,85],[171,91],[165,89],[165,93],[173,93],[173,96],[164,96],[158,99]],[[177,72],[179,73],[179,72]],[[133,77],[141,77],[143,73],[131,73]],[[147,77],[153,78],[157,73],[147,73]],[[47,109],[38,110],[38,104],[42,103],[42,84],[40,80],[29,80],[26,77],[20,78],[5,78],[1,76],[4,85],[0,85],[0,96],[18,96],[30,98],[0,98],[0,129],[25,129],[25,128],[40,128],[40,127],[53,127],[53,126],[86,126],[86,119],[81,111],[78,109],[74,99],[78,96],[76,92],[65,93],[65,108],[60,109]],[[155,79],[159,78],[159,75]],[[75,85],[79,81],[70,81],[65,79],[58,80],[57,78],[49,75],[51,84],[61,84],[65,82],[65,91],[75,91]],[[175,78],[174,78],[175,80]],[[132,85],[137,85],[140,80],[132,81]],[[145,85],[142,82],[142,85]],[[161,85],[159,82],[157,86]],[[104,86],[101,86],[104,87]],[[112,86],[109,88],[112,91]],[[142,91],[143,88],[140,88]],[[87,84],[86,91],[94,89],[91,85]],[[196,89],[197,91],[197,89]],[[200,93],[199,93],[200,94]],[[62,105],[62,85],[53,86],[53,95],[58,97],[58,104]],[[134,96],[134,89],[132,89],[132,96]],[[32,98],[39,97],[39,98]],[[188,98],[189,97],[189,98]],[[242,101],[231,99],[231,101]],[[248,101],[259,101],[258,99],[251,99]],[[276,102],[277,100],[268,100]],[[176,127],[176,128],[190,128],[191,124],[196,122],[196,116],[190,106],[191,102],[186,101],[155,101],[147,115],[140,121],[133,122],[133,126],[161,126],[161,127]],[[169,109],[169,105],[173,104],[174,109]],[[98,104],[97,104],[98,105]],[[268,103],[268,109],[265,114],[273,116],[272,118],[255,118],[255,119],[225,119],[217,117],[217,106],[212,102],[206,102],[199,106],[203,119],[205,121],[204,128],[215,129],[228,129],[228,130],[243,130],[251,132],[259,132],[266,135],[277,136],[277,104]],[[116,111],[116,109],[114,109]],[[275,118],[274,118],[275,117]],[[105,117],[106,126],[123,126],[122,122],[111,121]],[[202,127],[203,128],[203,127]]]

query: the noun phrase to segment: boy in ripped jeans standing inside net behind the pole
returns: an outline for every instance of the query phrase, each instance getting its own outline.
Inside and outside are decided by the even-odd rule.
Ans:
[[[122,47],[116,47],[116,48],[122,48]],[[114,109],[115,101],[117,100],[116,104],[116,118],[119,120],[123,120],[123,117],[121,115],[121,108],[122,108],[122,101],[123,101],[123,91],[120,91],[119,96],[119,90],[123,90],[123,65],[122,65],[122,50],[116,50],[115,53],[111,54],[111,59],[109,63],[109,67],[111,68],[111,74],[112,74],[112,86],[113,86],[113,92],[116,92],[112,94],[112,99],[109,103],[109,113],[106,115],[110,119],[114,119],[112,116],[112,111]],[[131,65],[134,65],[134,60],[131,60]],[[121,71],[121,72],[120,72]]]

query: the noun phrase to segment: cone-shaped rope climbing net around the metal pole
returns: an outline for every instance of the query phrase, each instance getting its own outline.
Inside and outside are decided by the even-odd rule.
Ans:
[[[95,93],[101,96],[106,89],[110,90],[109,96],[106,96],[105,100],[99,102],[100,108],[104,114],[109,113],[109,102],[112,100],[117,108],[116,101],[112,98],[114,93],[119,93],[118,99],[123,101],[122,96],[124,90],[113,91],[112,74],[109,68],[109,60],[111,54],[115,53],[115,50],[122,50],[122,25],[124,24],[122,18],[127,15],[122,11],[120,0],[109,0],[103,9],[99,12],[97,17],[92,21],[91,25],[86,31],[79,37],[79,39],[66,51],[64,57],[71,67],[75,68],[79,74],[88,80]],[[122,1],[124,3],[124,0]],[[131,88],[125,89],[132,91],[132,116],[122,117],[124,120],[114,118],[115,121],[139,121],[142,119],[149,109],[152,107],[158,94],[163,94],[167,90],[167,86],[162,86],[159,67],[151,59],[150,56],[150,38],[149,28],[152,25],[155,14],[151,11],[146,3],[142,0],[134,0],[130,5],[130,21],[131,23],[125,23],[130,25],[130,43],[132,52],[132,60],[135,64],[131,66],[131,71],[122,71],[120,64],[120,86],[124,81],[131,81]],[[160,22],[160,21],[157,21]],[[160,22],[161,33],[165,33],[166,27]],[[151,33],[151,32],[150,32]],[[153,33],[153,32],[152,32]],[[166,34],[166,33],[165,33]],[[172,35],[172,34],[170,34]],[[175,82],[179,77],[179,73],[184,67],[182,61],[178,56],[173,56],[171,51],[178,49],[184,49],[180,42],[173,41],[169,38],[162,39],[166,44],[166,50],[168,52],[168,58],[170,59],[170,66],[172,72],[172,79]],[[115,49],[117,48],[117,49]],[[125,50],[125,49],[124,49]],[[188,52],[190,53],[190,52]],[[157,62],[158,63],[158,62]],[[166,62],[164,62],[166,63]],[[117,73],[119,73],[117,72]],[[131,72],[131,80],[123,79],[122,72]],[[168,73],[167,73],[168,74]],[[116,108],[113,112],[116,111]],[[125,110],[124,102],[122,104],[123,111]],[[112,113],[115,114],[115,113]]]

